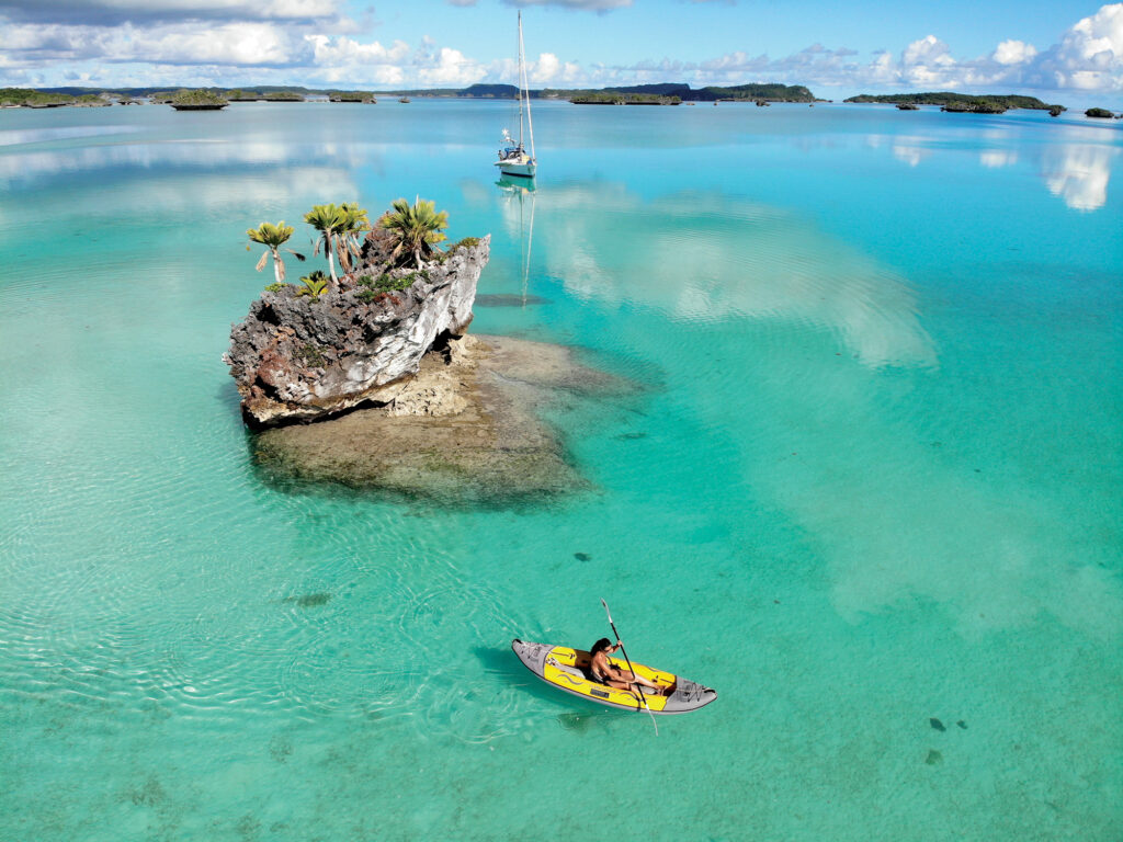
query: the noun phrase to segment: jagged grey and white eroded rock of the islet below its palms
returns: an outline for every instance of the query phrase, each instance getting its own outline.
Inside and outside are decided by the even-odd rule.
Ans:
[[[435,340],[468,327],[490,245],[484,237],[454,247],[442,260],[416,271],[408,289],[364,301],[367,287],[357,280],[382,275],[387,258],[385,239],[375,232],[364,246],[363,265],[341,278],[339,289],[318,299],[298,296],[295,286],[263,293],[230,331],[223,357],[246,422],[273,427],[328,418],[365,402],[393,404]],[[426,414],[423,405],[413,412]]]

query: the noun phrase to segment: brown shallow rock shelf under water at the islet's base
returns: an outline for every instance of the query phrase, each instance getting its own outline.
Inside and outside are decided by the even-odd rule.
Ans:
[[[569,348],[465,336],[428,354],[392,401],[266,430],[254,458],[275,479],[438,502],[551,497],[588,483],[539,410],[559,396],[629,388],[578,363]]]

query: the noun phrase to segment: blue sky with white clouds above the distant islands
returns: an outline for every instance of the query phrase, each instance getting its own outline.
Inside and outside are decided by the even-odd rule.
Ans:
[[[514,83],[517,9],[532,88],[1123,102],[1123,2],[1072,0],[0,0],[0,86]]]

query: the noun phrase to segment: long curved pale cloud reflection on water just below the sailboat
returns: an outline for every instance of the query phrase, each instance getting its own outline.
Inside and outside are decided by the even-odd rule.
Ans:
[[[576,296],[688,321],[813,324],[874,368],[937,364],[903,277],[783,211],[716,193],[647,202],[604,183],[550,186],[535,201],[536,249]],[[518,207],[504,208],[517,237]]]

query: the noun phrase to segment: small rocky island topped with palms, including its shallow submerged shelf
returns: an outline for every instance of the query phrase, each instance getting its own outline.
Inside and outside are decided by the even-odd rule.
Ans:
[[[331,259],[330,275],[285,283],[292,228],[250,229],[266,248],[258,268],[272,256],[277,280],[225,356],[264,472],[450,501],[585,486],[538,410],[627,386],[568,348],[466,335],[490,236],[436,248],[444,213],[422,201],[399,200],[373,227],[347,204],[318,205],[305,221],[344,273]]]

